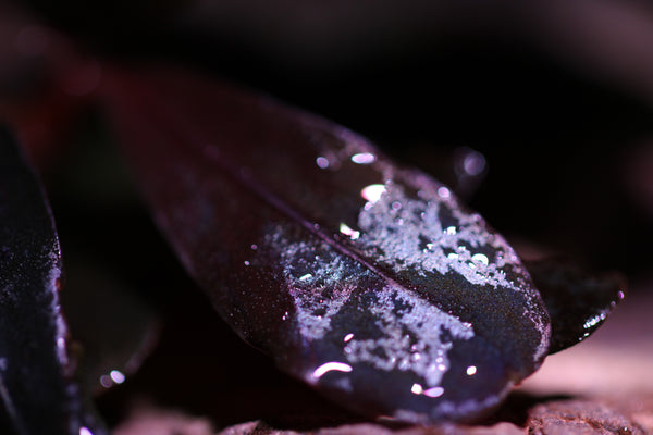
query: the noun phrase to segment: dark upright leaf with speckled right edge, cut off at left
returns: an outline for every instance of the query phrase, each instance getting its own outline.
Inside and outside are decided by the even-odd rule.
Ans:
[[[2,433],[104,433],[73,381],[61,315],[61,254],[44,192],[0,130],[0,398]],[[96,427],[98,426],[98,427]]]

